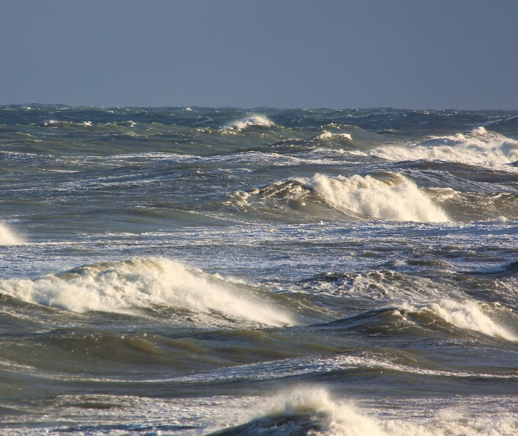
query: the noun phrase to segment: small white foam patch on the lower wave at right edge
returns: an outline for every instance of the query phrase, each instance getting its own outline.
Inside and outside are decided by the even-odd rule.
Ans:
[[[474,301],[457,302],[445,298],[439,303],[419,308],[419,312],[423,311],[430,311],[458,328],[474,330],[491,337],[501,337],[508,341],[518,341],[516,334],[492,321]]]

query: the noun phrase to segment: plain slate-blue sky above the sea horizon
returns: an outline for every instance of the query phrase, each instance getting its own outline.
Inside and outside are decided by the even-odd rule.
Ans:
[[[2,0],[0,105],[518,109],[518,0]]]

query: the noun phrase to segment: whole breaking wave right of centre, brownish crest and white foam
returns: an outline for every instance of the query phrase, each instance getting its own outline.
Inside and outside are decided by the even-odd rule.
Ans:
[[[231,203],[254,213],[266,208],[271,215],[309,216],[344,221],[395,220],[444,222],[450,220],[425,191],[395,173],[367,176],[286,180],[260,189],[232,194]]]

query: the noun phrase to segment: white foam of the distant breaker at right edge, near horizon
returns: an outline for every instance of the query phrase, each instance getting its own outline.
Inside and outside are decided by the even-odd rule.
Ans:
[[[413,146],[384,146],[369,154],[388,160],[442,160],[495,167],[518,160],[518,141],[479,126],[466,134],[432,137]]]

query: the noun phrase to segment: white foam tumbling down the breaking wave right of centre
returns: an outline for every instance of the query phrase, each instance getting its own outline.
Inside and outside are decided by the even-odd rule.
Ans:
[[[444,222],[448,216],[432,200],[402,176],[387,180],[371,176],[314,176],[312,184],[321,196],[340,209],[382,220]]]

